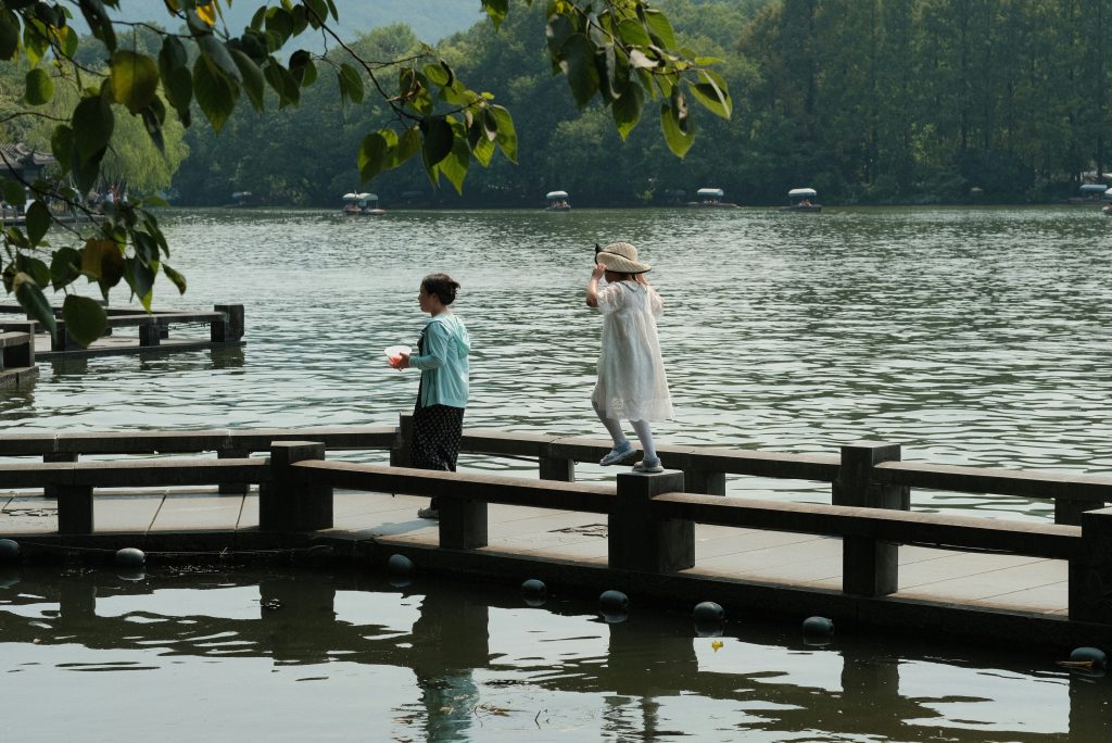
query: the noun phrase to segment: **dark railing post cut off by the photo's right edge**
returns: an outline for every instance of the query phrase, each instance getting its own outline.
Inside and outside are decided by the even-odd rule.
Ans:
[[[1112,508],[1081,515],[1081,549],[1070,561],[1070,621],[1112,624]]]

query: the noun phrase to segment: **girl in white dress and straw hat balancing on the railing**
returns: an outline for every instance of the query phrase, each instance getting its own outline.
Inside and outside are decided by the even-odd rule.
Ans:
[[[637,260],[633,245],[612,242],[599,248],[595,258],[587,306],[603,314],[603,345],[590,403],[614,439],[614,448],[599,464],[620,464],[634,456],[633,444],[622,430],[619,419],[624,418],[637,433],[645,454],[634,472],[664,472],[648,425],[672,418],[668,378],[656,337],[656,317],[664,311],[664,303],[645,278],[651,266]],[[606,286],[599,289],[598,279],[604,276]]]

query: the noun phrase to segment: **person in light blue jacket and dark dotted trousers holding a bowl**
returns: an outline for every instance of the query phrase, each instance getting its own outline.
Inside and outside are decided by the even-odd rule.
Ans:
[[[456,472],[467,407],[467,354],[471,348],[467,328],[449,309],[458,289],[459,284],[447,274],[429,274],[421,279],[417,301],[420,311],[428,313],[431,319],[420,331],[417,353],[401,354],[390,363],[396,369],[420,369],[409,443],[410,466],[419,469]],[[439,518],[437,499],[433,498],[417,516]]]

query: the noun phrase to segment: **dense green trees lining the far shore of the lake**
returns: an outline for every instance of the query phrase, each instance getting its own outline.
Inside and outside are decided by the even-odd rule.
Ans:
[[[378,100],[344,106],[321,78],[299,108],[237,110],[219,136],[186,132],[177,204],[260,200],[339,206],[348,191],[383,206],[664,205],[699,187],[741,204],[810,186],[838,204],[1046,202],[1112,169],[1108,0],[751,0],[661,2],[681,43],[718,57],[729,121],[702,117],[675,158],[646,103],[623,142],[610,110],[579,111],[545,51],[544,4],[453,36],[437,50],[514,113],[518,164],[495,160],[460,196],[419,165],[360,184],[355,155]],[[367,59],[419,48],[405,26],[353,44]],[[342,51],[331,52],[342,55]]]

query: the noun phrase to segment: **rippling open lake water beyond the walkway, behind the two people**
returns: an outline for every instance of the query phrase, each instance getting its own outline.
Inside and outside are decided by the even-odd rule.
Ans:
[[[1112,472],[1112,221],[1085,209],[322,211],[166,215],[186,297],[242,303],[225,351],[48,365],[0,390],[20,430],[387,425],[416,376],[421,276],[447,270],[475,345],[469,426],[603,436],[589,405],[599,323],[583,303],[595,242],[629,239],[666,301],[677,419],[666,444]],[[803,218],[801,218],[803,217]],[[120,299],[122,300],[122,298]],[[477,463],[476,466],[489,466]],[[586,478],[603,474],[585,469]],[[798,492],[732,481],[732,492]],[[820,494],[825,499],[826,494]],[[1045,518],[1048,504],[916,494],[925,508]]]

